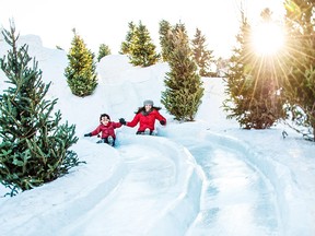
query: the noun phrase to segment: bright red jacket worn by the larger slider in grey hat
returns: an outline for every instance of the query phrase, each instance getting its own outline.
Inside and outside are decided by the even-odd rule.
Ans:
[[[152,131],[155,129],[155,119],[158,119],[159,121],[164,120],[164,125],[166,125],[166,119],[159,113],[159,110],[152,109],[152,111],[147,114],[147,116],[143,113],[138,113],[130,122],[126,123],[126,126],[135,127],[139,122],[138,131],[143,132],[147,128]]]

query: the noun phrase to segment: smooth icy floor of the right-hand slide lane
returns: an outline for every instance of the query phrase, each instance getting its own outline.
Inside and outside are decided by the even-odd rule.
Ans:
[[[243,153],[213,140],[186,146],[207,176],[200,213],[187,235],[278,235],[275,192]]]

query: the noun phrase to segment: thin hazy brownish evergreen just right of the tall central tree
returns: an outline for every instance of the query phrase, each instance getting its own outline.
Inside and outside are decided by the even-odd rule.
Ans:
[[[206,37],[201,34],[199,28],[196,28],[195,38],[192,43],[192,55],[199,69],[200,76],[210,76],[213,73],[210,72],[211,63],[214,63],[211,50],[207,50]]]

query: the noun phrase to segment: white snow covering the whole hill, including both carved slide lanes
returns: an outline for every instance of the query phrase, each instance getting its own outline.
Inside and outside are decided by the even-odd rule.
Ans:
[[[43,47],[38,36],[20,40],[51,82],[47,98],[58,98],[62,121],[75,125],[71,150],[86,164],[13,198],[0,186],[1,236],[315,235],[314,142],[282,123],[240,129],[222,110],[222,79],[202,78],[196,120],[180,123],[160,102],[167,63],[136,68],[126,56],[107,56],[97,63],[95,92],[81,98],[65,80],[65,51]],[[0,43],[0,55],[7,49]],[[115,148],[83,137],[101,114],[128,121],[148,98],[167,119],[155,123],[156,137],[121,127]]]

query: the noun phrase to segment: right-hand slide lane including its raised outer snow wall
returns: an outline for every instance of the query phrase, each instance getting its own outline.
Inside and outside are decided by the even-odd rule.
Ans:
[[[198,141],[194,143],[194,140],[177,140],[195,155],[207,176],[200,200],[201,211],[187,232],[187,236],[288,235],[285,232],[288,219],[280,214],[289,211],[285,192],[290,192],[291,187],[283,184],[287,182],[285,178],[292,176],[285,166],[275,162],[270,156],[260,155],[255,146],[249,146],[241,140],[210,132],[201,137],[202,145],[199,145]],[[202,156],[207,153],[202,149],[208,149],[209,155]],[[234,182],[234,186],[231,182]],[[243,196],[240,190],[235,189],[236,194],[231,194],[233,190],[229,188],[233,189],[238,185],[240,189],[247,192],[246,198],[252,196],[247,202],[244,198],[246,194]],[[243,220],[240,222],[235,221],[236,219],[232,220],[231,213]],[[225,219],[223,221],[226,225],[222,225],[222,217]],[[241,226],[244,224],[248,226]],[[244,228],[247,232],[243,232]]]

